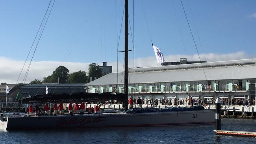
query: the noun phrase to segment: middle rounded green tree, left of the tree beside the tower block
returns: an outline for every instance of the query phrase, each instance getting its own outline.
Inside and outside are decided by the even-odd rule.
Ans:
[[[67,80],[68,83],[86,83],[87,76],[86,72],[79,70],[78,72],[73,72],[69,75]]]

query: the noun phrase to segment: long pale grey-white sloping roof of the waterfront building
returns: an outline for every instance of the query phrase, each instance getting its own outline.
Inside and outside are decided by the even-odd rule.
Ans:
[[[208,67],[203,69],[202,66]],[[133,69],[131,71],[133,71]],[[124,73],[119,72],[107,74],[86,85],[116,85],[117,78],[119,81],[118,84],[124,84]],[[251,78],[256,78],[256,59],[210,62],[202,63],[202,65],[201,63],[197,63],[136,68],[135,73],[129,73],[128,83],[161,83]]]

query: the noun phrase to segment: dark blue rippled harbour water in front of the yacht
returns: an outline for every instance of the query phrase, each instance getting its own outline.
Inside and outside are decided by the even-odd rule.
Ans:
[[[256,120],[222,119],[221,129],[256,131]],[[216,135],[215,125],[0,131],[0,143],[252,144],[256,138]]]

